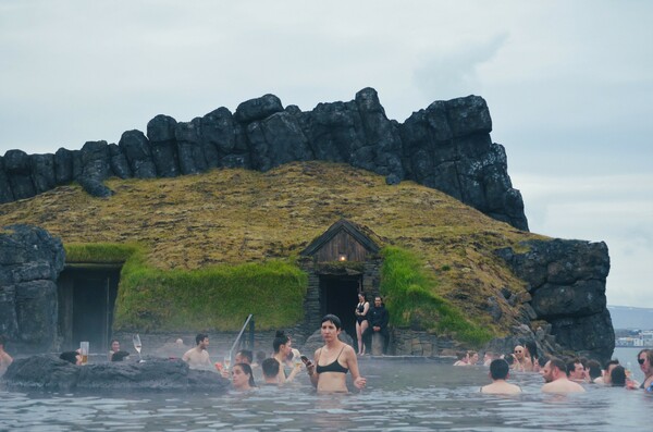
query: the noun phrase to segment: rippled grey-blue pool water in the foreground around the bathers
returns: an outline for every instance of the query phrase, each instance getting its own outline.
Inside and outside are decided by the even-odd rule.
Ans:
[[[300,374],[248,394],[27,395],[0,391],[0,431],[614,431],[648,430],[653,396],[586,385],[543,395],[538,374],[510,380],[523,394],[481,395],[488,369],[364,360],[368,388],[318,396]]]

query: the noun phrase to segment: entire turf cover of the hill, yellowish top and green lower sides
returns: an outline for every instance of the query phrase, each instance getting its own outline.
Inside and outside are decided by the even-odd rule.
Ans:
[[[0,226],[42,226],[61,237],[69,261],[125,259],[115,317],[115,325],[124,329],[149,323],[152,330],[226,330],[236,325],[231,321],[242,323],[241,314],[255,307],[263,308],[257,325],[296,323],[306,283],[288,257],[346,218],[371,230],[381,246],[418,257],[403,270],[406,295],[395,291],[393,296],[392,285],[405,284],[396,276],[398,270],[383,271],[382,289],[391,296],[393,322],[483,341],[483,331],[507,333],[520,313],[507,305],[501,289],[523,289],[494,250],[542,238],[439,190],[412,182],[389,186],[383,176],[328,162],[289,163],[266,173],[214,170],[106,183],[115,192],[106,199],[70,185],[1,205]],[[73,244],[76,249],[69,247]],[[395,259],[392,248],[386,254],[387,260]],[[90,256],[100,256],[99,261]],[[420,277],[426,282],[415,282]],[[280,309],[291,297],[287,310]],[[498,320],[490,317],[490,297],[503,312]],[[251,304],[235,312],[222,309],[241,308],[243,301]],[[193,316],[205,321],[188,321]]]

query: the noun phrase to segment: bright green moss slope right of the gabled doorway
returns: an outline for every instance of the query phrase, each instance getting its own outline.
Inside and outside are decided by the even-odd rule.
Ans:
[[[436,294],[438,281],[415,254],[399,247],[385,247],[382,255],[381,293],[394,325],[426,328],[472,346],[480,346],[494,336]]]

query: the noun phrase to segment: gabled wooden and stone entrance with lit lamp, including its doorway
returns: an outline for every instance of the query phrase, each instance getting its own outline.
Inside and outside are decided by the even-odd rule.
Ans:
[[[300,252],[308,273],[306,322],[309,331],[321,318],[334,313],[343,330],[356,337],[354,309],[358,293],[368,300],[379,293],[380,238],[369,229],[341,219]]]

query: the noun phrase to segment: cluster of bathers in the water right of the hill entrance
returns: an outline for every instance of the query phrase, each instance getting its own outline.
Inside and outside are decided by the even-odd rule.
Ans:
[[[630,377],[630,371],[612,359],[602,368],[599,361],[583,357],[560,359],[556,357],[538,357],[534,342],[517,345],[513,353],[495,355],[485,353],[482,365],[490,367],[491,384],[481,387],[481,393],[517,394],[521,393],[518,385],[507,382],[510,371],[539,372],[544,379],[544,393],[581,393],[586,384],[600,384],[626,388],[642,388],[653,393],[653,349],[641,349],[637,356],[644,381],[638,383]],[[458,355],[454,366],[475,366],[479,363],[476,351],[465,351]]]

